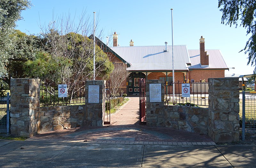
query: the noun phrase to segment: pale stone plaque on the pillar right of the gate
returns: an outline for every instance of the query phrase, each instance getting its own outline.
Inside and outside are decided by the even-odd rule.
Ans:
[[[149,102],[161,101],[161,84],[149,84]]]

